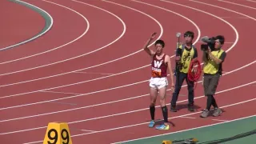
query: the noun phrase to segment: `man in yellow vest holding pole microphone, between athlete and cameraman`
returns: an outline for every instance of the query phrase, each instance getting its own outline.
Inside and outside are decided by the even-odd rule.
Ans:
[[[190,82],[187,77],[190,62],[197,60],[198,50],[192,44],[194,33],[186,31],[184,34],[185,44],[178,47],[176,51],[176,62],[178,62],[178,70],[176,71],[176,85],[173,98],[170,102],[170,111],[177,112],[176,102],[178,100],[178,94],[182,88],[182,83],[186,79],[188,89],[188,110],[194,111],[194,82]]]

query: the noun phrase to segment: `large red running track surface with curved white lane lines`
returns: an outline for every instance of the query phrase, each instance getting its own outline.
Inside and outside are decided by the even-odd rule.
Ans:
[[[160,1],[150,2],[150,4],[159,7],[132,1],[110,1],[122,4],[122,6],[102,1],[90,2],[93,6],[86,5],[86,1],[84,1],[86,3],[79,3],[70,0],[52,1],[54,3],[28,0],[26,2],[46,10],[54,18],[54,26],[47,34],[36,41],[14,49],[19,50],[18,52],[20,53],[12,51],[12,54],[10,54],[10,52],[5,52],[8,55],[2,59],[2,62],[51,50],[78,38],[88,28],[84,18],[88,20],[90,26],[86,34],[69,45],[62,46],[46,54],[2,65],[5,67],[0,71],[0,75],[4,75],[0,83],[2,89],[2,95],[0,96],[0,114],[2,115],[0,119],[2,128],[0,130],[0,138],[3,139],[3,142],[25,143],[42,141],[48,122],[56,121],[70,122],[74,143],[120,142],[166,133],[166,131],[149,130],[146,126],[150,118],[147,109],[149,105],[148,79],[150,78],[150,67],[146,65],[149,64],[150,59],[143,51],[132,54],[141,50],[146,38],[149,38],[152,32],[158,32],[159,36],[161,30],[163,30],[161,38],[166,41],[166,54],[170,56],[174,54],[174,48],[172,47],[176,42],[175,34],[178,31],[183,33],[186,30],[193,30],[196,34],[195,39],[204,35],[225,35],[228,43],[225,44],[224,49],[230,51],[227,53],[224,70],[230,73],[222,76],[218,86],[218,91],[220,91],[216,95],[218,105],[227,106],[224,108],[226,112],[219,119],[232,120],[255,114],[254,109],[251,109],[256,104],[255,100],[230,106],[234,103],[245,102],[255,98],[252,93],[255,83],[237,87],[255,82],[254,77],[249,77],[249,75],[254,75],[256,70],[255,64],[251,63],[255,62],[254,53],[244,50],[246,47],[246,50],[254,51],[254,47],[250,46],[250,39],[247,38],[248,35],[254,34],[255,31],[254,21],[256,20],[253,18],[246,18],[245,15],[198,2],[181,2],[178,0],[171,2],[180,3],[182,6]],[[144,0],[142,2],[148,1]],[[250,17],[255,15],[254,10],[246,7],[218,1],[207,1],[207,3],[235,10]],[[240,2],[240,4],[256,7],[254,2]],[[71,10],[63,6],[69,7]],[[115,14],[122,21],[94,6]],[[134,10],[124,6],[129,6]],[[219,18],[184,6],[205,10],[226,21],[221,21]],[[72,10],[82,14],[84,18]],[[136,10],[140,10],[145,14]],[[201,35],[198,35],[198,29],[191,22],[168,10],[190,18],[198,26]],[[163,29],[156,21],[161,24]],[[122,22],[125,23],[125,30]],[[229,22],[234,28],[230,27],[226,22]],[[40,25],[42,23],[38,24],[38,26]],[[238,42],[230,49],[230,46],[234,45],[232,42],[235,42],[237,38],[234,30],[238,32]],[[124,34],[122,35],[123,32]],[[120,35],[122,35],[122,38],[118,38]],[[106,46],[110,42],[114,43]],[[196,46],[199,48],[200,44],[198,42]],[[98,50],[102,46],[106,47]],[[23,48],[26,48],[26,51],[22,52]],[[93,50],[98,51],[87,54]],[[82,54],[86,55],[74,58]],[[122,58],[128,54],[132,55]],[[200,51],[199,57],[201,57]],[[74,59],[60,62],[68,58]],[[120,59],[110,62],[117,58]],[[59,63],[51,64],[54,62]],[[104,62],[108,63],[96,66]],[[249,63],[250,66],[246,66]],[[35,68],[37,66],[39,67]],[[141,66],[144,67],[132,70]],[[26,70],[30,68],[34,68],[34,70]],[[26,71],[15,72],[19,70]],[[64,74],[74,70],[80,70],[79,72],[82,73]],[[14,72],[14,74],[8,74],[10,72]],[[98,74],[87,74],[85,72]],[[119,74],[122,72],[125,73]],[[56,74],[62,75],[53,76]],[[236,89],[231,89],[234,87]],[[170,102],[170,91],[168,94],[167,103]],[[186,87],[182,89],[181,94],[187,94]],[[171,122],[175,126],[171,126],[168,132],[186,130],[218,122],[212,121],[212,118],[198,118],[200,110],[206,105],[206,99],[202,97],[201,83],[198,83],[195,94],[195,103],[198,106],[198,111],[193,114],[186,109],[182,109],[178,113],[170,113],[170,118],[174,118],[171,119]],[[181,105],[186,105],[186,96],[180,96],[179,101],[182,101]],[[246,112],[238,113],[238,109],[246,109]],[[126,112],[127,114],[125,114]],[[156,112],[156,117],[162,118],[160,109]],[[180,118],[181,115],[185,114],[189,114],[189,116],[196,119]],[[186,125],[186,123],[190,123],[190,125]],[[134,126],[136,124],[139,125]],[[94,130],[96,132],[82,130]]]

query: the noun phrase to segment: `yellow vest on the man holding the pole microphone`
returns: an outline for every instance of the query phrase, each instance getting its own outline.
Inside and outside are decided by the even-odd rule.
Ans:
[[[184,45],[180,45],[178,48],[183,48],[181,58],[182,68],[179,71],[187,74],[189,71],[190,62],[194,58],[194,46],[191,47],[190,51],[186,50]]]

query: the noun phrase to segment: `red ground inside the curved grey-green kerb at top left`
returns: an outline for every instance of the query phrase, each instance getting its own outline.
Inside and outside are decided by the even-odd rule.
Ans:
[[[14,9],[13,12],[9,12],[10,7]],[[0,18],[2,18],[0,49],[32,38],[44,28],[45,19],[37,11],[31,10],[26,6],[15,2],[2,1],[0,10],[2,11],[0,14]],[[8,18],[6,17],[7,13]],[[14,50],[7,51],[1,52],[0,61],[7,58],[6,54],[14,53]]]

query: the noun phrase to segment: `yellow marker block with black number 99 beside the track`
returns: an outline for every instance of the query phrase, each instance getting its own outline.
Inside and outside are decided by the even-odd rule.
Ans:
[[[72,144],[68,126],[50,123],[43,144]]]

